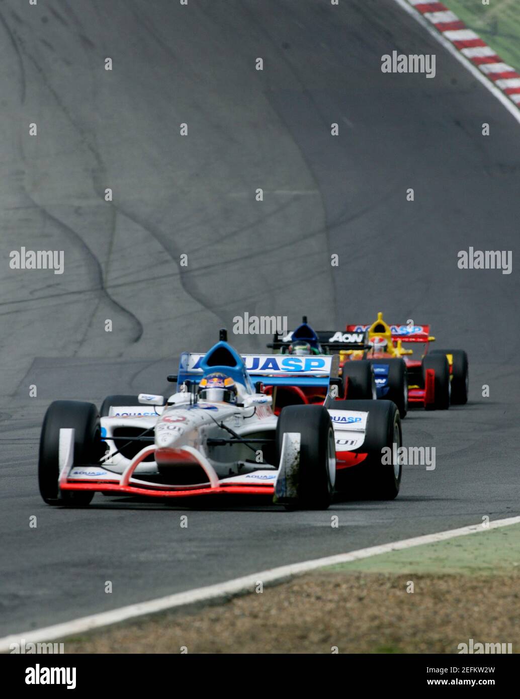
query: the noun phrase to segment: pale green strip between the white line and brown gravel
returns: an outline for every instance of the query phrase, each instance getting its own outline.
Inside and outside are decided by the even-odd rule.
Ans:
[[[459,536],[403,551],[333,565],[326,570],[384,573],[462,573],[464,575],[518,573],[520,524]]]

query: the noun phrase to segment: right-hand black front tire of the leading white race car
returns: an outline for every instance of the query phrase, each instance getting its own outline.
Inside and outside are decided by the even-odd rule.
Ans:
[[[340,401],[338,401],[340,402]],[[326,510],[332,502],[335,482],[334,431],[328,410],[322,405],[287,405],[276,426],[278,463],[286,432],[301,435],[297,497],[282,500],[288,510]]]

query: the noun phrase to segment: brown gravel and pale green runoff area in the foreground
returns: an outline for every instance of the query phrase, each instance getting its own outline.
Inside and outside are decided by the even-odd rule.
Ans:
[[[458,653],[473,639],[517,653],[519,544],[519,525],[483,528],[66,639],[65,652]]]

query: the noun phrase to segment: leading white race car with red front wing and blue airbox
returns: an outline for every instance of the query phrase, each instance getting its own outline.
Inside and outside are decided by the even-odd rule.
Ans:
[[[40,440],[43,500],[74,506],[88,505],[96,492],[238,494],[294,510],[326,509],[335,491],[398,494],[396,405],[335,400],[337,355],[240,356],[221,339],[204,355],[182,354],[178,375],[168,380],[178,392],[167,401],[108,396],[101,416],[92,403],[52,403]],[[302,390],[301,398],[291,394],[300,404],[277,405],[278,387],[289,386],[325,387],[325,398],[310,404]],[[280,396],[287,401],[287,391]]]

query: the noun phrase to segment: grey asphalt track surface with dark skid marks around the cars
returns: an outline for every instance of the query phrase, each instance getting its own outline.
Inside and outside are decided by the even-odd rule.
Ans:
[[[0,633],[519,514],[520,126],[419,24],[387,0],[6,0],[0,32]],[[381,73],[394,49],[435,53],[435,79]],[[21,245],[64,250],[64,274],[10,270]],[[470,245],[512,250],[513,273],[458,270]],[[383,310],[467,349],[468,405],[403,424],[435,470],[318,513],[43,504],[50,401],[166,392],[179,352],[246,310],[338,328]]]

